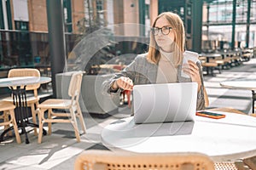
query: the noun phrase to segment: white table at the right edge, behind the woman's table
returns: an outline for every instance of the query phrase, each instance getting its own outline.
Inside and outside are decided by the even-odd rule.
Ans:
[[[251,90],[252,91],[252,100],[253,100],[252,111],[253,111],[253,113],[255,113],[254,112],[254,102],[256,100],[256,94],[254,91],[256,90],[256,81],[242,79],[242,80],[232,80],[232,81],[220,82],[219,84],[223,88]]]

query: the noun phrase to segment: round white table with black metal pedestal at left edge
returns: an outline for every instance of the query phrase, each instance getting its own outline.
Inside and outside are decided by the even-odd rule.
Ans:
[[[28,121],[28,111],[26,105],[26,85],[30,84],[42,84],[50,82],[50,77],[9,77],[0,79],[0,88],[9,87],[11,88],[14,104],[16,105],[18,113],[15,113],[16,122],[19,128],[22,129],[22,133],[26,135],[26,144],[29,144],[25,127],[38,127],[38,124],[34,124]],[[16,87],[16,88],[13,88]],[[3,136],[13,127],[3,131],[0,136],[0,141],[3,141]],[[44,131],[46,134],[46,131]]]

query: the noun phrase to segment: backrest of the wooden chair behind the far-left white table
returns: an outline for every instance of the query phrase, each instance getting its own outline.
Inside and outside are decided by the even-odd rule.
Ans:
[[[8,77],[40,77],[38,69],[11,69],[9,70]],[[26,90],[37,90],[40,84],[27,85]]]

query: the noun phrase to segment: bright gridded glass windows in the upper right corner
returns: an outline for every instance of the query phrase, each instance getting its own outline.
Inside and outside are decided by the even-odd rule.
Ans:
[[[251,0],[249,40],[247,35],[247,0],[236,0],[236,28],[235,48],[256,47],[256,1]],[[232,40],[233,1],[218,0],[212,3],[204,3],[203,14],[207,15],[203,20],[203,40],[228,41]]]

